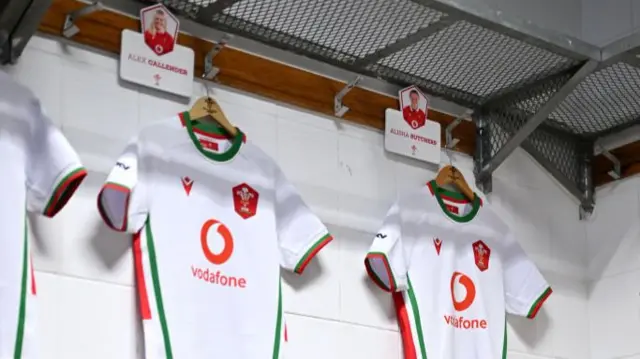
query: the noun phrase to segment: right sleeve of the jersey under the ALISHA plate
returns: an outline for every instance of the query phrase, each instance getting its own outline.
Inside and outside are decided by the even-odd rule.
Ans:
[[[509,234],[502,250],[507,312],[533,319],[551,295],[551,287]]]

